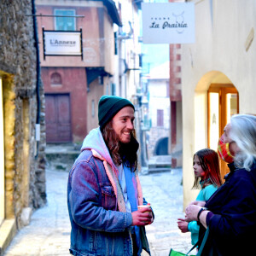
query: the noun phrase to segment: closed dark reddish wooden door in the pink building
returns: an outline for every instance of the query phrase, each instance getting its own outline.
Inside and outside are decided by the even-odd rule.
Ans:
[[[70,143],[71,114],[68,94],[45,95],[46,143]]]

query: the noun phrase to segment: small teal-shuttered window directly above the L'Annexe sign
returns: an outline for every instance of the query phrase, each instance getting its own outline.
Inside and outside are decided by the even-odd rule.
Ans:
[[[76,30],[76,20],[74,9],[55,9],[55,15],[63,17],[55,17],[55,30],[74,31]]]

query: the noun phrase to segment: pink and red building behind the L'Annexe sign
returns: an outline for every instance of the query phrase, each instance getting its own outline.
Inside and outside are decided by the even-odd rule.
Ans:
[[[114,94],[113,25],[120,26],[118,10],[112,0],[35,2],[46,102],[46,141],[81,144],[87,133],[98,126],[100,97]],[[65,55],[44,55],[47,52],[46,31],[54,33],[55,38],[65,31],[67,41],[73,32],[81,32],[82,56],[67,52]]]

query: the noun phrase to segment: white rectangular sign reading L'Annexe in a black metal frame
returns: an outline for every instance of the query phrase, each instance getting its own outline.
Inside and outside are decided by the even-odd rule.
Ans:
[[[44,55],[81,54],[81,32],[44,31]]]

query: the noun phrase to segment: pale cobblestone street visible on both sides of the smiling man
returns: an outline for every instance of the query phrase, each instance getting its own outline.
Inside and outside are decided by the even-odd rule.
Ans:
[[[67,175],[47,170],[48,204],[32,214],[31,223],[17,233],[4,256],[70,255]],[[190,235],[177,229],[177,218],[183,217],[182,170],[154,172],[141,175],[140,179],[143,195],[155,215],[154,224],[147,226],[151,254],[168,255],[171,247],[187,253],[191,247]]]

